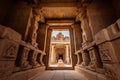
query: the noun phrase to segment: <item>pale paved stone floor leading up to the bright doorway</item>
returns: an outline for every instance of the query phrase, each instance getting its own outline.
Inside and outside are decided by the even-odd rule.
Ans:
[[[41,72],[30,80],[87,80],[74,70],[48,70]]]

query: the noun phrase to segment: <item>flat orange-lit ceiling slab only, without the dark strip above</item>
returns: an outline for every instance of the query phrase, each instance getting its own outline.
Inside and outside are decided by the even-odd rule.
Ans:
[[[42,7],[45,18],[75,18],[78,14],[77,7]]]

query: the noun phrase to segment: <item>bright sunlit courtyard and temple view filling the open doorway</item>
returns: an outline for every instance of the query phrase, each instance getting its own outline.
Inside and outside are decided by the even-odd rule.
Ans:
[[[69,30],[54,29],[52,31],[49,67],[72,67]]]

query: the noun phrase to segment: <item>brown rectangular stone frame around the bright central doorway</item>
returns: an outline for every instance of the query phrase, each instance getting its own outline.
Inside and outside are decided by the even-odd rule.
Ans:
[[[71,47],[71,58],[72,58],[72,67],[49,67],[49,55],[50,55],[50,43],[51,43],[51,35],[53,29],[63,29],[69,30],[70,33],[70,47]],[[74,44],[74,30],[72,25],[56,25],[56,26],[49,26],[47,29],[47,39],[46,39],[46,56],[45,56],[45,65],[47,70],[65,70],[70,69],[73,70],[74,66],[76,65],[76,55],[75,55],[75,44]]]

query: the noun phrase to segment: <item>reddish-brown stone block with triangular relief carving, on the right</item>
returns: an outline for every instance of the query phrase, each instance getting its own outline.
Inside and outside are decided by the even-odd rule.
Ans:
[[[99,45],[101,59],[105,63],[119,62],[116,57],[115,49],[112,45],[113,44],[111,42],[106,42],[106,43]]]

